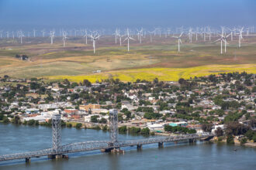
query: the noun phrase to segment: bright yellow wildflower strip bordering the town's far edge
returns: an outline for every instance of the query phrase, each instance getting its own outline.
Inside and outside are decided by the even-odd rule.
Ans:
[[[119,79],[124,82],[134,82],[140,80],[158,80],[177,81],[180,78],[189,79],[195,76],[208,76],[210,74],[230,73],[230,72],[247,72],[256,73],[256,64],[240,64],[240,65],[208,65],[195,66],[189,68],[143,68],[130,70],[115,70],[104,73],[92,73],[88,75],[78,76],[47,76],[49,80],[64,80],[68,79],[74,82],[89,80],[95,83],[97,80],[106,80],[109,78]]]

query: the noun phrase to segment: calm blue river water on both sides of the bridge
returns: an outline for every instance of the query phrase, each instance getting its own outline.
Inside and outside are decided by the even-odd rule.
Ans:
[[[51,129],[45,127],[0,124],[0,155],[21,151],[50,148]],[[76,141],[109,139],[109,133],[95,130],[64,128],[62,144]],[[119,135],[119,139],[138,139],[142,136]],[[237,151],[234,151],[237,148]],[[70,154],[69,159],[50,160],[34,158],[0,162],[0,169],[256,169],[256,149],[234,145],[173,143],[144,145],[141,151],[135,147],[124,148],[124,155],[112,155],[100,151]]]

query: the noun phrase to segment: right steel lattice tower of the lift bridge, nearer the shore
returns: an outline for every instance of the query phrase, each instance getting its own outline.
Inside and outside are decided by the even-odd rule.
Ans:
[[[118,134],[118,115],[116,109],[109,110],[109,134],[112,144],[117,142]]]

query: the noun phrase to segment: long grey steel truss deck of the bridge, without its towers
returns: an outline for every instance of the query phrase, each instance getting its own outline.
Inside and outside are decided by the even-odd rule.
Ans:
[[[56,153],[53,148],[43,149],[40,151],[29,151],[17,154],[10,154],[10,155],[0,155],[0,161],[9,161],[13,159],[21,159],[21,158],[35,158],[47,155],[61,155],[79,151],[92,151],[92,150],[99,150],[99,149],[108,149],[108,148],[122,148],[126,146],[133,146],[133,145],[147,145],[147,144],[154,144],[159,142],[168,142],[168,141],[182,141],[182,140],[189,140],[189,139],[199,139],[199,138],[210,138],[213,137],[213,134],[182,134],[177,136],[169,136],[169,137],[162,137],[162,138],[146,138],[140,140],[131,140],[131,141],[118,141],[116,143],[112,143],[112,141],[85,141],[85,142],[78,142],[72,143],[69,145],[62,145],[61,151]]]

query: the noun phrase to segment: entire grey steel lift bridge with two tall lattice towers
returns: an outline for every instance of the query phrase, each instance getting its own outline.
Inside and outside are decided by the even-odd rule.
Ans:
[[[137,146],[141,148],[142,145],[158,143],[159,147],[168,141],[195,141],[196,139],[213,138],[214,134],[181,134],[175,136],[161,137],[161,138],[145,138],[140,140],[119,141],[118,135],[118,117],[117,110],[109,111],[109,141],[85,141],[78,143],[71,143],[68,145],[61,145],[61,115],[55,114],[52,117],[52,148],[47,148],[39,151],[28,151],[9,155],[0,155],[0,161],[9,161],[14,159],[25,159],[30,162],[31,158],[39,158],[48,156],[48,158],[63,158],[65,154],[81,152],[81,151],[120,151],[119,148],[127,146]]]

